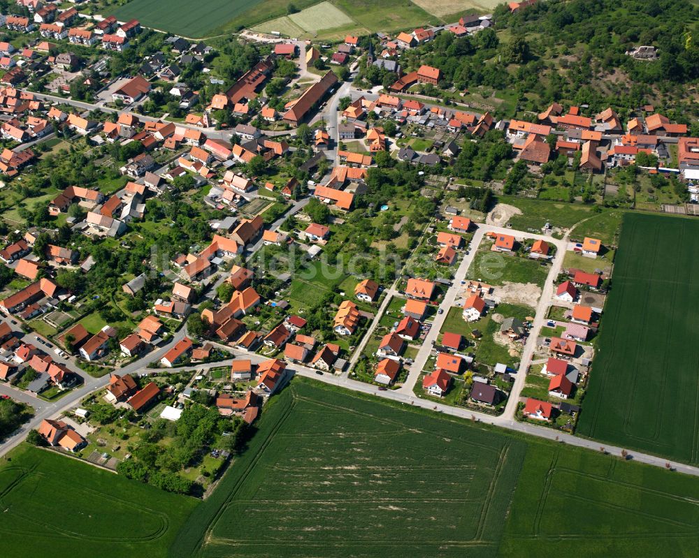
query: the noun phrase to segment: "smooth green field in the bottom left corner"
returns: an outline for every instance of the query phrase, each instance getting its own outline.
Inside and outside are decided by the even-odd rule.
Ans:
[[[196,500],[22,444],[0,462],[3,556],[165,557]]]

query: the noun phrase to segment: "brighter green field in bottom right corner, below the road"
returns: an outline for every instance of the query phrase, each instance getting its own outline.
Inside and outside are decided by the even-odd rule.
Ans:
[[[696,478],[560,443],[527,445],[500,556],[696,556]]]

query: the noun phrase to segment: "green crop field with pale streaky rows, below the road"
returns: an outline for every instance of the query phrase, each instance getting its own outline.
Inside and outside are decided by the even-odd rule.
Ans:
[[[495,556],[523,457],[521,441],[295,380],[171,551]]]

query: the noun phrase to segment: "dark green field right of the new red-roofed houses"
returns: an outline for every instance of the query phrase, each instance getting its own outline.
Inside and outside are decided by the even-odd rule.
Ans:
[[[584,436],[699,464],[699,223],[624,215]]]

